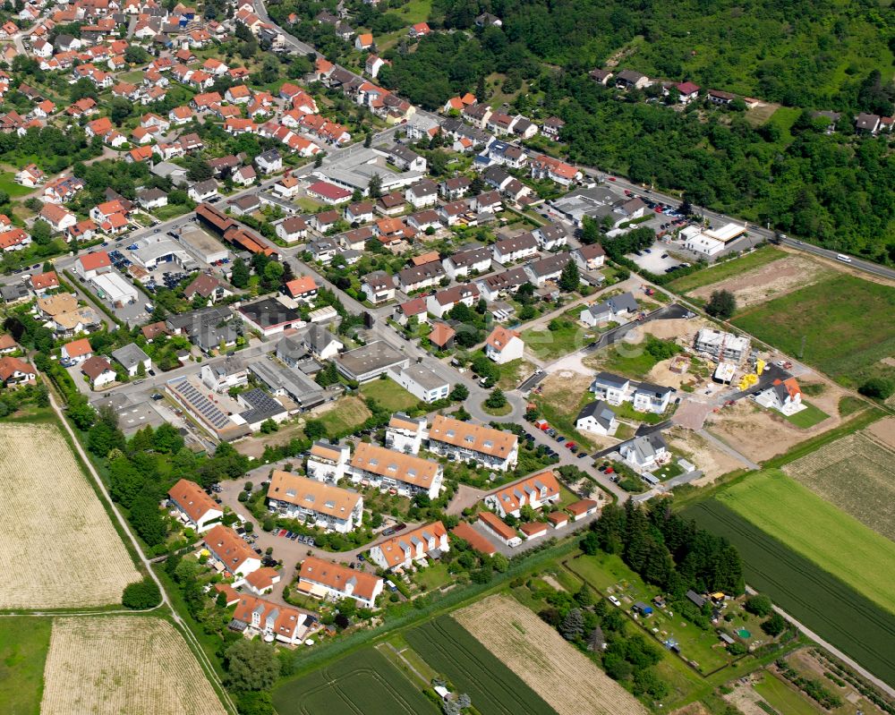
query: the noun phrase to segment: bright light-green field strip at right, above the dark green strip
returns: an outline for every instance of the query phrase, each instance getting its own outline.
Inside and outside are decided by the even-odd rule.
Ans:
[[[715,498],[895,613],[895,543],[853,516],[779,470],[751,475]]]

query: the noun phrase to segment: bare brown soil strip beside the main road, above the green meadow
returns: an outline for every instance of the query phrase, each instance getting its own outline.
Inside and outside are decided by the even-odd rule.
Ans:
[[[737,298],[737,306],[744,308],[747,305],[778,298],[831,275],[831,268],[827,268],[823,263],[805,256],[790,255],[760,268],[747,270],[737,277],[703,285],[691,294],[695,298],[708,300],[714,291],[726,290]]]

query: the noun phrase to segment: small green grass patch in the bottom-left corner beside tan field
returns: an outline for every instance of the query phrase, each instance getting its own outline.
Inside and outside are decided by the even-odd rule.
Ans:
[[[0,626],[0,712],[37,715],[50,646],[49,618],[8,617]]]

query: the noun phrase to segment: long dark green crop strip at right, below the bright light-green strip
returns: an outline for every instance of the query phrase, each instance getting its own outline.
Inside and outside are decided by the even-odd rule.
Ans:
[[[766,506],[772,506],[771,502]],[[891,612],[716,498],[687,507],[684,515],[737,547],[746,583],[767,593],[780,608],[877,677],[895,680],[895,651],[891,649],[895,616]],[[797,516],[791,521],[796,522]]]

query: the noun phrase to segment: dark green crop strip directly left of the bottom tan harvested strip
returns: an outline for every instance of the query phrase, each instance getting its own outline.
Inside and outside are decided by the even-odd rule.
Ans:
[[[431,668],[468,693],[482,715],[549,715],[552,708],[453,618],[442,616],[405,634]]]

